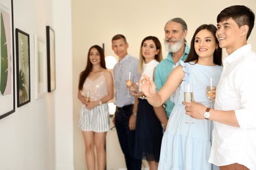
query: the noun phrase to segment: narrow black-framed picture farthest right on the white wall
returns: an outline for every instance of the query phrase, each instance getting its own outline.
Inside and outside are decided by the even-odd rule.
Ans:
[[[56,88],[55,35],[54,35],[54,30],[50,26],[46,26],[46,37],[47,37],[47,82],[48,82],[48,92],[52,92]]]

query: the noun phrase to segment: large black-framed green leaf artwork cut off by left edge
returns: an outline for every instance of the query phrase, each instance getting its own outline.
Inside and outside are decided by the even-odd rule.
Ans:
[[[15,112],[12,0],[0,0],[0,119]]]

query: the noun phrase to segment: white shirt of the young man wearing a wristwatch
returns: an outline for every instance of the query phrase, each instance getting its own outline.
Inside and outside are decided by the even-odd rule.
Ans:
[[[240,163],[256,169],[256,54],[251,44],[224,59],[215,109],[234,110],[240,127],[214,122],[209,162],[221,166]],[[211,112],[211,111],[210,111]]]

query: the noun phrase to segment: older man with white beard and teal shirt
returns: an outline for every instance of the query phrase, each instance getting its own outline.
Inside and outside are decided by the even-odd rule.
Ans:
[[[182,18],[173,18],[165,24],[165,50],[168,55],[157,66],[154,75],[154,82],[156,84],[157,92],[165,84],[169,74],[173,71],[173,65],[178,61],[184,61],[189,53],[189,46],[186,43],[186,34],[188,27]],[[163,130],[165,130],[168,118],[173,110],[174,103],[170,99],[165,101],[161,107],[154,107],[156,115],[161,121]]]

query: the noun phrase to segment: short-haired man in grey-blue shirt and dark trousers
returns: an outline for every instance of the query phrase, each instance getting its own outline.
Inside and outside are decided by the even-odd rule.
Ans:
[[[119,59],[113,69],[116,90],[116,112],[113,122],[121,150],[125,155],[127,170],[137,170],[141,169],[142,164],[142,160],[136,159],[134,155],[137,106],[134,106],[135,97],[127,93],[125,80],[131,73],[133,83],[136,83],[139,82],[141,75],[138,73],[139,59],[127,53],[128,47],[125,36],[117,34],[112,38],[112,50]]]

